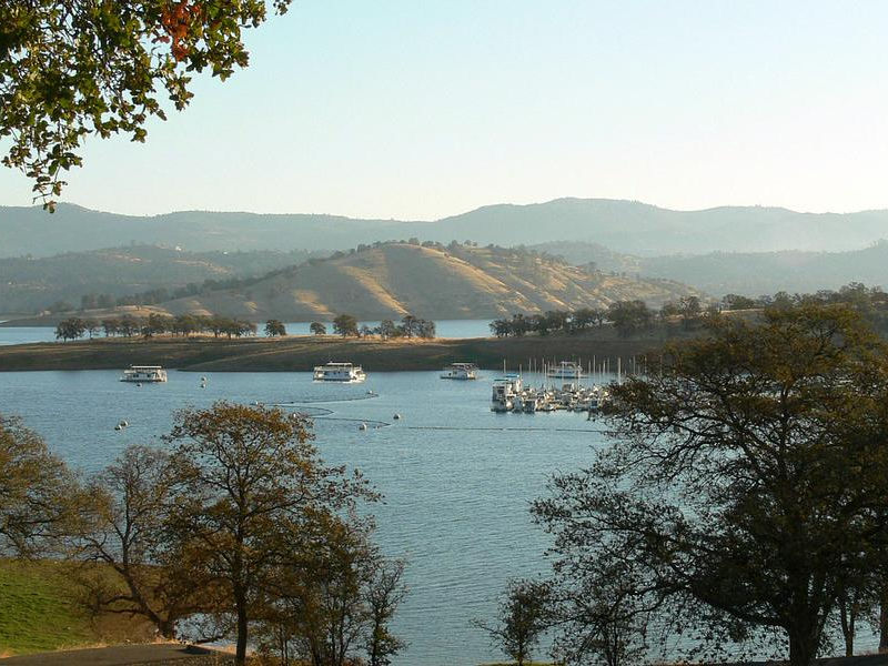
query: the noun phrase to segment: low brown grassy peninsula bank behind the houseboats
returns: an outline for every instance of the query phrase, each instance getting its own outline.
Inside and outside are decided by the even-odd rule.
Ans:
[[[427,341],[341,339],[293,335],[279,339],[97,337],[74,342],[41,342],[0,346],[0,373],[48,370],[122,370],[162,365],[186,372],[306,372],[329,361],[363,365],[367,372],[441,370],[454,362],[497,369],[527,367],[562,360],[587,365],[609,360],[626,363],[654,352],[667,336],[648,334],[618,339],[610,330],[584,335],[545,337],[462,337]],[[626,367],[626,366],[624,366]]]

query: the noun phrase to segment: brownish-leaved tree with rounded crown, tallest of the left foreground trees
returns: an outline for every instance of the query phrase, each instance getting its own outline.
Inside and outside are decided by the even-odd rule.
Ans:
[[[218,591],[214,613],[232,618],[238,664],[285,545],[314,521],[375,498],[360,474],[324,466],[310,438],[302,417],[224,402],[176,413],[167,437],[176,482],[169,528],[189,544],[195,577]]]

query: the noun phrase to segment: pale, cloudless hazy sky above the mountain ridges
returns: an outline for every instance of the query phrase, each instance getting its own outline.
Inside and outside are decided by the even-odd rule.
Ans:
[[[295,0],[63,200],[434,219],[558,196],[888,208],[888,2]],[[0,203],[30,183],[0,171]]]

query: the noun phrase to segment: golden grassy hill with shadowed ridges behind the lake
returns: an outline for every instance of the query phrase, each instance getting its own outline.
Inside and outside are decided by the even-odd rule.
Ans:
[[[603,307],[640,299],[653,306],[697,291],[668,280],[589,272],[523,250],[384,243],[310,261],[233,289],[152,307],[165,314],[220,314],[251,321],[480,319]],[[108,312],[88,313],[103,316]]]

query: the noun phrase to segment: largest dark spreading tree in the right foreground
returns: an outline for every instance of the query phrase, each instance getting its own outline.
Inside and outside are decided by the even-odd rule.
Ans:
[[[841,591],[884,564],[886,350],[847,306],[707,322],[613,386],[616,437],[534,506],[556,566],[634,563],[634,604],[707,638],[788,643],[808,666]]]

